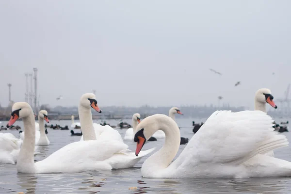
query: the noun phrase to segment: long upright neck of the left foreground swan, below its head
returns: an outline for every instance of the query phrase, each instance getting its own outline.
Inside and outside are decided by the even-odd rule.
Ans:
[[[24,140],[17,158],[17,169],[34,170],[35,119],[30,114],[23,119]],[[29,170],[29,171],[32,171]]]

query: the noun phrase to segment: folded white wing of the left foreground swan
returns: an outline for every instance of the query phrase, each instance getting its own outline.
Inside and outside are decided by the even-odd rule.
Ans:
[[[87,170],[111,169],[104,162],[128,146],[119,141],[74,142],[52,153],[43,161],[36,162],[39,172],[82,172]]]

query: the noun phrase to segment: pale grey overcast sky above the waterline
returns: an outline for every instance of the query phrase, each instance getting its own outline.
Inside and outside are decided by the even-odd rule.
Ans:
[[[24,101],[24,73],[37,67],[40,102],[51,106],[77,106],[96,89],[100,107],[223,96],[253,109],[259,88],[279,98],[291,82],[290,8],[290,0],[1,0],[0,103],[7,83]]]

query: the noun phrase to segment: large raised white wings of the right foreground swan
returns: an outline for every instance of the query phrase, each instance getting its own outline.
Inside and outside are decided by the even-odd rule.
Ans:
[[[288,146],[286,137],[273,131],[272,122],[273,119],[261,111],[216,111],[173,165],[189,168],[206,162],[241,164],[258,154]]]

